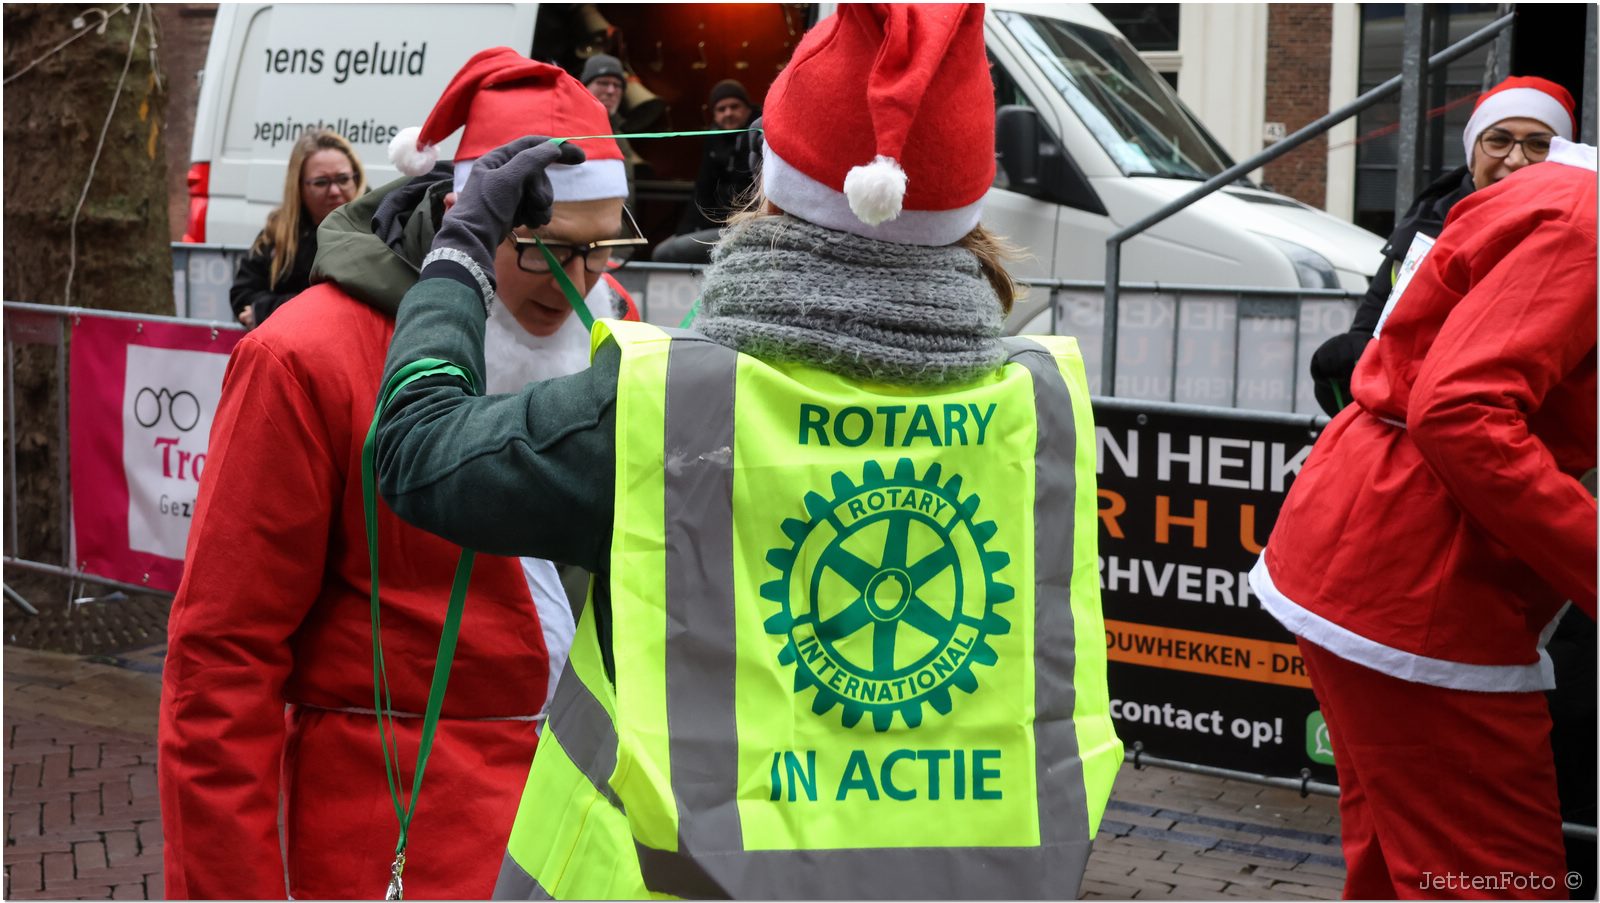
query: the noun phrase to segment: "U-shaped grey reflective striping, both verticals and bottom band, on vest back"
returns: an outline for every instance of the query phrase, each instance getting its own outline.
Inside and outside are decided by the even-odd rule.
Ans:
[[[667,727],[678,852],[635,844],[645,884],[691,898],[1061,898],[1088,860],[1072,724],[1072,512],[1077,435],[1054,357],[1008,341],[1034,376],[1035,719],[1040,847],[742,850],[736,805],[733,405],[738,357],[669,330],[666,400]],[[1054,602],[1054,604],[1051,604]]]

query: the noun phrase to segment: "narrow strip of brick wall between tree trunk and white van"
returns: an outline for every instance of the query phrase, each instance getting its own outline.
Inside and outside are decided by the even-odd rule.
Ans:
[[[195,106],[200,102],[198,74],[211,45],[216,3],[157,3],[162,75],[166,78],[166,221],[173,240],[182,237],[189,221],[189,144],[195,133]]]

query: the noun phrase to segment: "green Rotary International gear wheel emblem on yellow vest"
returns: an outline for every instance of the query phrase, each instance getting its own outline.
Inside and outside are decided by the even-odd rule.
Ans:
[[[922,725],[923,703],[949,714],[950,687],[973,693],[973,664],[998,661],[987,637],[1010,621],[995,605],[1014,597],[997,573],[1011,557],[986,546],[992,520],[978,520],[978,495],[962,477],[939,482],[939,464],[917,477],[901,458],[886,477],[877,461],[861,484],[832,477],[834,498],[808,492],[806,520],[790,517],[790,546],[766,552],[778,580],[762,597],[778,604],[766,632],[786,639],[778,661],[794,666],[794,690],[816,690],[811,711],[843,709],[845,727],[872,712],[888,730],[899,712]]]

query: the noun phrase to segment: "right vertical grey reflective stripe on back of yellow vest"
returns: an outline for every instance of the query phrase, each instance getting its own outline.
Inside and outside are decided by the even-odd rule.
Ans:
[[[1077,636],[1072,623],[1072,524],[1077,511],[1078,435],[1072,395],[1045,346],[1005,339],[1010,360],[1034,375],[1038,440],[1034,451],[1034,682],[1038,831],[1046,844],[1088,841],[1078,732],[1072,724]],[[1074,887],[1077,892],[1077,887]]]

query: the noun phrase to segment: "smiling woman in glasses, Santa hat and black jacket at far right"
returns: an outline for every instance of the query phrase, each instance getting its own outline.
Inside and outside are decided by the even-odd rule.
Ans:
[[[1333,336],[1310,359],[1317,402],[1328,416],[1350,402],[1350,373],[1373,338],[1400,263],[1416,237],[1438,237],[1458,200],[1485,189],[1528,163],[1544,162],[1550,138],[1573,139],[1573,96],[1546,78],[1512,75],[1478,98],[1462,134],[1467,162],[1422,189],[1384,245],[1384,263],[1373,274],[1350,331]]]

